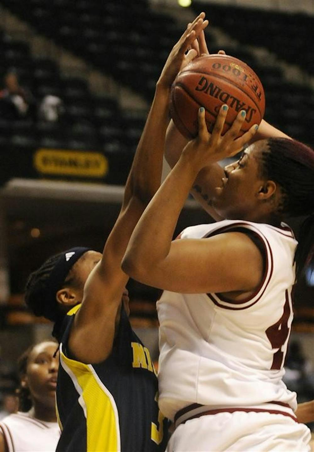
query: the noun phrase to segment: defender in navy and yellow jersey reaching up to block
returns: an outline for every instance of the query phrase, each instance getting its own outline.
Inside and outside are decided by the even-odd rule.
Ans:
[[[200,14],[187,27],[157,81],[121,212],[103,254],[74,248],[48,259],[29,278],[26,302],[35,314],[55,322],[61,343],[57,451],[162,452],[166,447],[167,420],[158,411],[157,377],[149,351],[128,320],[128,276],[121,260],[159,187],[171,84],[197,54],[188,47],[207,26],[204,17]]]

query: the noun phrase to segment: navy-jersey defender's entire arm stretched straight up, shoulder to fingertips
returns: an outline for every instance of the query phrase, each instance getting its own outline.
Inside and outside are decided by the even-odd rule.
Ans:
[[[134,156],[119,217],[100,262],[86,281],[82,306],[69,338],[72,353],[83,362],[100,362],[111,352],[121,297],[128,280],[121,270],[121,260],[139,217],[160,184],[171,84],[181,67],[196,55],[195,50],[185,52],[208,24],[204,16],[200,14],[190,24],[166,61]]]

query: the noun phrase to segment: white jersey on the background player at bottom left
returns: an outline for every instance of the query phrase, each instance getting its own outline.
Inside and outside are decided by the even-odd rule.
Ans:
[[[43,422],[22,412],[3,419],[0,430],[9,452],[54,452],[60,438],[57,422]]]

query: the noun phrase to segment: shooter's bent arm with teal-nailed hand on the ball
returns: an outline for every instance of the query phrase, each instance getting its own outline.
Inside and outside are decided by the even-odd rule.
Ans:
[[[199,136],[187,144],[134,229],[122,267],[138,281],[183,293],[250,292],[260,282],[262,257],[244,234],[229,232],[208,239],[171,241],[201,168],[234,155],[255,133],[252,127],[234,140],[245,117],[239,113],[221,137],[226,112],[227,106],[221,108],[211,136],[204,108],[199,113]],[[243,262],[246,265],[240,265]]]

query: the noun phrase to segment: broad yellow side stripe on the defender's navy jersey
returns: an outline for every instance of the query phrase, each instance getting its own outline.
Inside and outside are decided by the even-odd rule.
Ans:
[[[64,353],[60,358],[63,369],[84,400],[83,404],[81,400],[79,403],[86,417],[86,452],[119,452],[119,415],[113,396],[91,365],[67,358]]]

